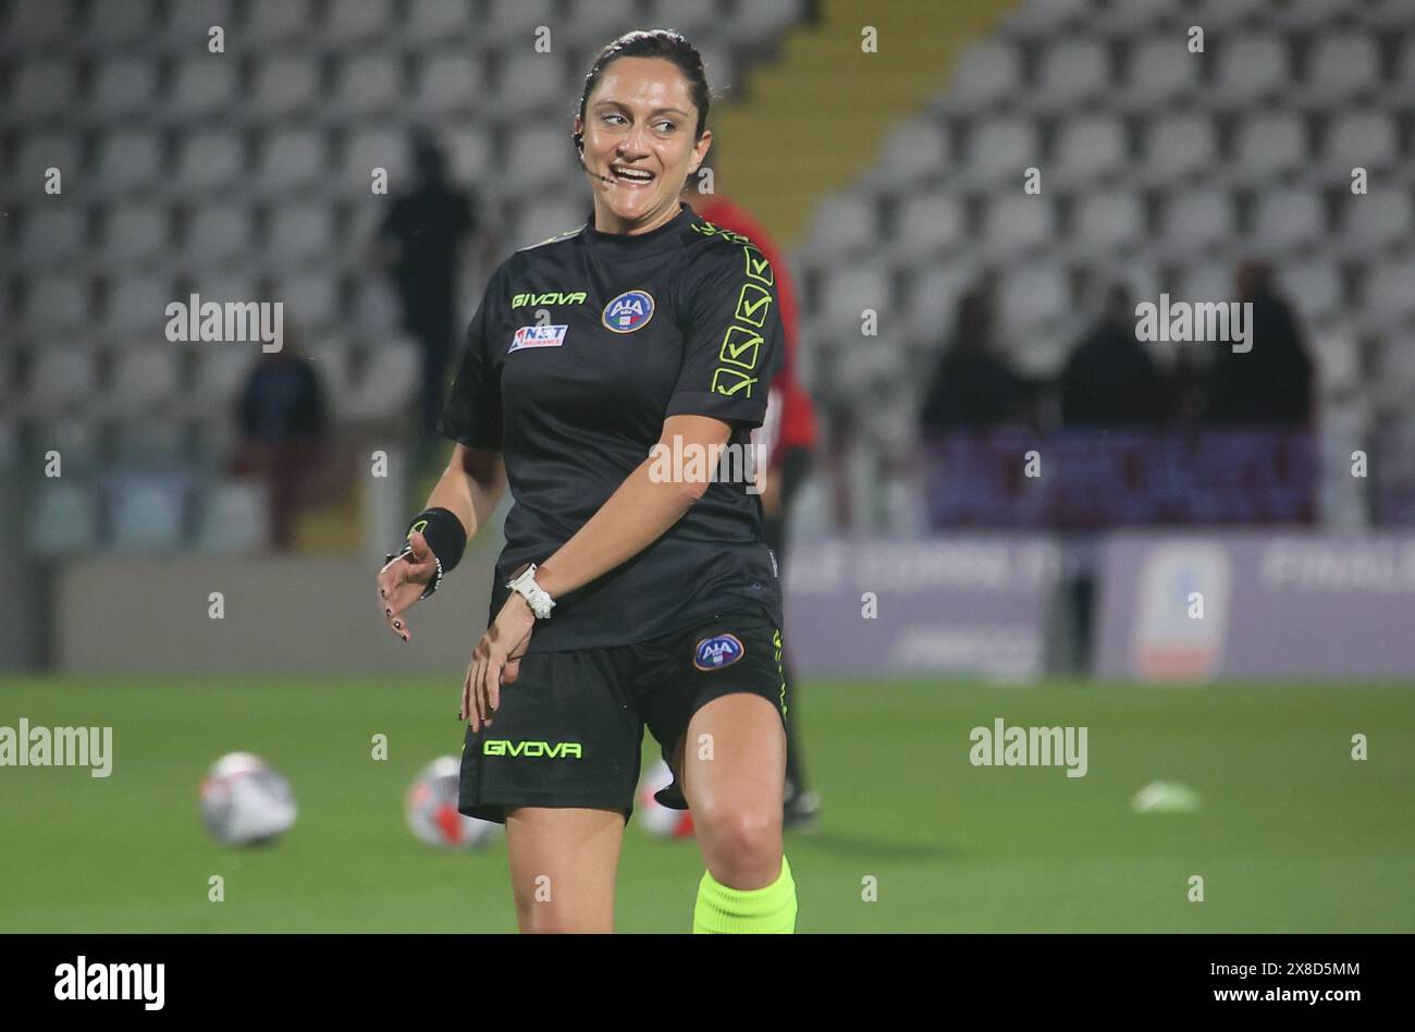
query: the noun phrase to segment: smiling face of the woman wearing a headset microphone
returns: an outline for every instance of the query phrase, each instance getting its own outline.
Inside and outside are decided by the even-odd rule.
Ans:
[[[645,234],[678,215],[678,194],[712,144],[698,129],[688,79],[662,58],[618,58],[604,69],[584,105],[584,163],[594,190],[594,228]]]

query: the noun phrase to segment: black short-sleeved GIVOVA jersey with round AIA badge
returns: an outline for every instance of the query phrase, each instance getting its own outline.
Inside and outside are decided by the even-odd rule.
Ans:
[[[744,449],[782,360],[767,259],[686,204],[637,236],[597,231],[591,212],[502,262],[440,423],[505,459],[515,504],[490,617],[511,572],[548,559],[649,457],[665,418],[715,416]],[[630,644],[753,603],[780,627],[775,563],[747,484],[717,478],[642,552],[558,597],[531,651]]]

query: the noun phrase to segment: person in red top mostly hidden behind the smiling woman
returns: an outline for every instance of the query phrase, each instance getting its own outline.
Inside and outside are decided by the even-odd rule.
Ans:
[[[717,154],[706,160],[712,178],[702,170],[683,184],[682,198],[713,225],[729,232],[741,234],[767,256],[777,275],[777,297],[781,306],[781,323],[785,331],[785,364],[771,381],[767,401],[767,418],[756,439],[760,453],[766,456],[766,477],[761,491],[761,508],[766,524],[767,546],[775,555],[781,576],[785,576],[787,524],[791,501],[811,470],[811,453],[816,439],[815,406],[811,395],[797,379],[797,328],[798,313],[795,283],[775,242],[746,208],[733,202],[722,193],[722,163]],[[706,193],[710,184],[712,193]],[[699,193],[699,191],[703,193]],[[799,729],[799,705],[794,691],[795,681],[791,664],[782,655],[782,671],[787,682],[787,793],[784,825],[788,828],[812,828],[819,820],[821,797],[812,791],[805,779],[805,757]]]

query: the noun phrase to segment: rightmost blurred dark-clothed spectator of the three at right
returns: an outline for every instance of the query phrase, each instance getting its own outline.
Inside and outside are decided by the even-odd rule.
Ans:
[[[1210,425],[1305,428],[1312,422],[1313,364],[1298,320],[1274,285],[1272,266],[1244,262],[1235,286],[1240,302],[1252,302],[1252,350],[1223,347],[1207,379]]]

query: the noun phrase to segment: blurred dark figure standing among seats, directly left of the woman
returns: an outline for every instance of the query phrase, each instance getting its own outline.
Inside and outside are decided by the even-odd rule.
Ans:
[[[449,183],[441,147],[420,132],[412,147],[416,183],[393,200],[378,229],[378,246],[402,303],[403,326],[423,350],[423,435],[432,440],[457,338],[460,251],[477,232],[477,215],[471,191]]]

